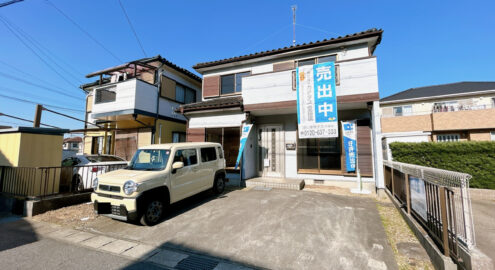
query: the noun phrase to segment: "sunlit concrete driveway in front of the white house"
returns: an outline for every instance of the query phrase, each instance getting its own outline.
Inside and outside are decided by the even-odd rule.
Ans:
[[[154,227],[109,218],[84,227],[256,268],[397,269],[371,198],[243,189],[187,199]]]

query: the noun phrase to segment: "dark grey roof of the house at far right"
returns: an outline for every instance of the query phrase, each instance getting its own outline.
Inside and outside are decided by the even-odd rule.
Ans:
[[[393,102],[413,98],[430,98],[437,96],[459,95],[480,91],[495,90],[495,82],[456,82],[410,88],[380,99],[380,102]]]

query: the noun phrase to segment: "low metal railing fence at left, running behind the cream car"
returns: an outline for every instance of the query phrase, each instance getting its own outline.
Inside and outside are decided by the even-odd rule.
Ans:
[[[17,197],[92,191],[94,179],[126,164],[71,167],[0,167],[0,193]]]

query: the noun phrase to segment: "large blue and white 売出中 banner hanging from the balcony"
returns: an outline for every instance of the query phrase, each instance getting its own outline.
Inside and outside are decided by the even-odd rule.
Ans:
[[[298,67],[296,74],[299,138],[338,137],[334,62]]]

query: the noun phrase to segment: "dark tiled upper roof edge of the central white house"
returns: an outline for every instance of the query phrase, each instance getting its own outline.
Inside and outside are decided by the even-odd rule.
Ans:
[[[198,63],[198,64],[194,65],[193,68],[199,69],[199,68],[211,67],[211,66],[215,66],[215,65],[232,63],[232,62],[237,62],[237,61],[242,61],[242,60],[247,60],[247,59],[253,59],[253,58],[262,57],[262,56],[275,55],[275,54],[285,53],[285,52],[289,52],[289,51],[295,51],[295,50],[300,50],[300,49],[324,46],[324,45],[335,44],[335,43],[340,43],[340,42],[345,42],[345,41],[351,41],[351,40],[356,40],[356,39],[361,39],[361,38],[366,38],[366,37],[378,36],[378,40],[376,41],[376,44],[372,48],[372,52],[373,52],[376,45],[380,44],[380,41],[382,38],[382,33],[383,33],[382,29],[372,28],[372,29],[368,29],[366,31],[362,31],[362,32],[354,33],[354,34],[349,34],[349,35],[345,35],[345,36],[339,36],[336,38],[318,40],[315,42],[303,43],[303,44],[298,44],[295,46],[283,47],[283,48],[278,48],[278,49],[273,49],[273,50],[268,50],[268,51],[262,51],[262,52],[257,52],[257,53],[242,55],[242,56],[226,58],[226,59],[217,60],[217,61]]]

